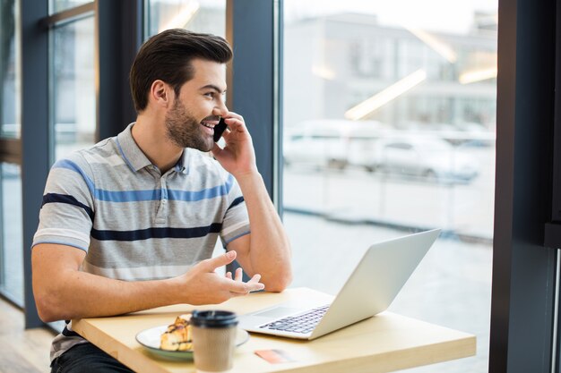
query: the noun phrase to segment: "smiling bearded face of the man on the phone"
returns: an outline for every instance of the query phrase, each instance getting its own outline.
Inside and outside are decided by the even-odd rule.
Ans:
[[[180,148],[210,151],[214,147],[213,127],[228,114],[224,65],[205,60],[192,61],[194,77],[181,87],[166,114],[166,134]]]

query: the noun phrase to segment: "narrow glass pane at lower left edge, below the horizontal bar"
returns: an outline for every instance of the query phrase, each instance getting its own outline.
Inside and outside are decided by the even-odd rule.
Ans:
[[[20,166],[0,165],[2,216],[0,291],[23,306],[22,175]]]

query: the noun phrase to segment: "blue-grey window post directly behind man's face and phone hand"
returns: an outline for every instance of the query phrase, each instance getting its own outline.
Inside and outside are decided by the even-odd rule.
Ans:
[[[230,110],[244,116],[254,139],[257,167],[279,206],[281,0],[227,0],[226,37],[234,49],[227,83]],[[251,20],[251,21],[248,21]],[[278,38],[278,40],[275,40]],[[257,57],[258,56],[258,57]],[[277,200],[275,200],[277,199]]]

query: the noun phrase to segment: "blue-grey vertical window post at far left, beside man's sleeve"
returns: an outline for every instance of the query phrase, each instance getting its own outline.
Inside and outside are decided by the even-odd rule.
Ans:
[[[43,326],[31,286],[31,243],[49,169],[48,38],[38,27],[48,15],[47,1],[20,0],[22,51],[22,214],[25,326]]]

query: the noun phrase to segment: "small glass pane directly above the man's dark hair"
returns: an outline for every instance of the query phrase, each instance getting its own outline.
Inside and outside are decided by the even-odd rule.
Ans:
[[[148,36],[168,29],[226,35],[226,0],[150,0]]]

